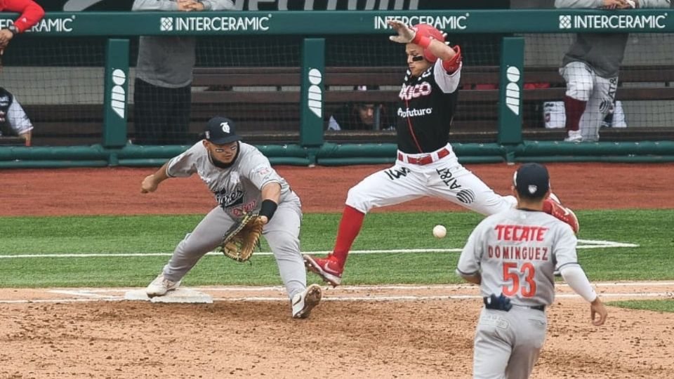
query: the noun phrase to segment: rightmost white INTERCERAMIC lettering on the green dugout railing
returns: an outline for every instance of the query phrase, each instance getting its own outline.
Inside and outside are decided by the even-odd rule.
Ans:
[[[656,15],[560,15],[560,29],[664,29],[668,13]]]

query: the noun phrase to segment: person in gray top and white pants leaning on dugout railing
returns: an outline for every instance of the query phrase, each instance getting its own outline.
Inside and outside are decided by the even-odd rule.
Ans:
[[[555,0],[556,8],[669,8],[670,0]],[[618,70],[627,33],[579,33],[564,55],[560,74],[564,96],[565,141],[597,141],[599,129],[616,98]],[[581,127],[582,126],[582,127]]]

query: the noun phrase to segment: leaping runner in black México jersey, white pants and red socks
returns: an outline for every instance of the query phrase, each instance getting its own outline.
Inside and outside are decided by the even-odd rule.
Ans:
[[[405,44],[407,73],[397,109],[397,161],[349,189],[332,253],[326,258],[304,255],[308,270],[332,286],[341,284],[346,258],[362,227],[365,214],[380,206],[400,204],[424,196],[437,197],[483,215],[513,208],[515,197],[503,197],[458,163],[449,143],[461,79],[461,48],[445,44],[444,34],[428,24],[413,27],[388,21]],[[546,211],[578,231],[573,212],[553,199]]]

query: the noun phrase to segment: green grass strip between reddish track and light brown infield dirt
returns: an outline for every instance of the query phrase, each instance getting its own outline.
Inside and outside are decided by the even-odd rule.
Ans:
[[[674,279],[674,210],[581,211],[580,239],[629,242],[637,248],[579,250],[593,281]],[[303,251],[329,251],[341,215],[307,214]],[[0,218],[0,255],[62,253],[171,253],[202,215],[138,215]],[[372,213],[353,250],[461,248],[482,216],[458,213]],[[435,239],[436,224],[447,237]],[[263,242],[263,251],[270,251]],[[461,283],[454,274],[459,253],[352,254],[345,284]],[[0,258],[0,286],[145,286],[169,256],[100,258]],[[310,275],[310,281],[317,277]],[[186,285],[280,285],[270,255],[239,264],[206,256],[187,274]]]

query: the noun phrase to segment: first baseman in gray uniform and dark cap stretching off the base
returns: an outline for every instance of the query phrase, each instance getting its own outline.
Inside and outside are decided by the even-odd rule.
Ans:
[[[218,206],[176,246],[164,270],[147,286],[147,295],[161,296],[178,288],[197,261],[222,244],[225,231],[246,213],[257,212],[265,223],[263,236],[272,248],[291,298],[292,316],[308,317],[321,300],[321,288],[306,285],[300,255],[299,197],[256,147],[240,142],[232,120],[213,117],[204,134],[204,140],[143,180],[142,192],[147,193],[154,192],[167,178],[186,178],[197,173],[218,201]]]

